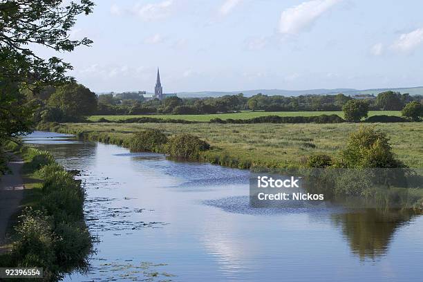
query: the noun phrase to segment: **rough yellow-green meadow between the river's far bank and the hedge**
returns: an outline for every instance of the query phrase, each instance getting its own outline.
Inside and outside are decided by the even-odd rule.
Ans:
[[[192,133],[212,144],[207,160],[242,167],[289,167],[299,164],[301,157],[313,153],[337,156],[346,146],[349,133],[359,124],[62,124],[56,131],[88,133],[94,140],[120,144],[131,133],[146,128],[160,129],[168,134]],[[370,126],[370,125],[369,125]],[[410,167],[423,168],[423,123],[373,124],[391,138],[393,151]],[[236,160],[240,164],[232,164]]]

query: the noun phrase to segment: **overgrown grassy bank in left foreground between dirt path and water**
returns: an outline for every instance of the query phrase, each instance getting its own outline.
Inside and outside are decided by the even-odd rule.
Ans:
[[[44,281],[59,281],[88,268],[92,238],[84,222],[84,189],[46,151],[16,145],[26,190],[23,209],[2,267],[42,267]]]

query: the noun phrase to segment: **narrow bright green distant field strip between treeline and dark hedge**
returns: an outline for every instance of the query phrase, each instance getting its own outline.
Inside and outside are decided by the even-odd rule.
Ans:
[[[243,111],[242,113],[217,113],[212,115],[93,115],[89,120],[96,122],[100,118],[105,118],[111,121],[117,120],[126,120],[128,118],[163,118],[163,119],[174,119],[174,120],[189,120],[196,122],[209,122],[214,118],[220,118],[222,120],[227,120],[228,118],[232,119],[241,119],[247,120],[249,118],[257,118],[264,115],[279,115],[281,117],[293,117],[293,116],[305,116],[310,117],[314,115],[339,115],[341,118],[344,118],[344,113],[342,111],[301,111],[301,112],[263,112],[263,111]],[[400,111],[370,111],[368,116],[373,115],[397,115],[400,116]]]

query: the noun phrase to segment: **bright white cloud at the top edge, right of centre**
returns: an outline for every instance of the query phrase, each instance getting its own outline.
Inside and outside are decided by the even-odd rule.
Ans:
[[[279,21],[279,32],[294,35],[307,30],[340,1],[342,0],[312,0],[284,10]]]

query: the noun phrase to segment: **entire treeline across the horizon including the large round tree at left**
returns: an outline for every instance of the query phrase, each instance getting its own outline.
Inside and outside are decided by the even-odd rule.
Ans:
[[[339,93],[337,95],[301,95],[299,97],[262,94],[244,97],[243,94],[238,94],[208,98],[167,97],[162,101],[157,99],[120,100],[111,94],[97,96],[82,84],[75,82],[56,88],[46,87],[39,91],[37,95],[27,91],[26,97],[32,104],[37,105],[33,114],[35,122],[82,122],[89,115],[198,115],[235,113],[247,110],[268,112],[344,111],[347,121],[357,122],[361,118],[367,118],[366,113],[368,111],[400,111],[408,104],[417,105],[417,107],[420,105],[421,107],[423,100],[421,95],[411,96],[407,93],[401,94],[393,91],[379,93],[377,97],[360,97],[360,99]],[[355,116],[351,116],[348,115],[348,111],[359,111],[360,113],[357,112]],[[404,116],[418,120],[418,117],[423,114],[417,113],[417,117],[416,113],[412,113],[412,115]],[[316,118],[296,117],[296,119],[299,120],[299,123],[302,123],[315,122],[314,119]],[[283,120],[293,123],[292,118],[284,118]]]

